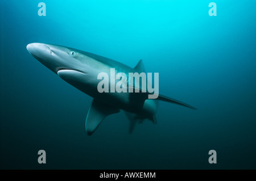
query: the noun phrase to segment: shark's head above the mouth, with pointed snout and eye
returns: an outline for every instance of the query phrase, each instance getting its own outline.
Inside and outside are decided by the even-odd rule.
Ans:
[[[75,49],[52,44],[31,43],[27,45],[27,50],[56,74],[59,70],[86,72],[86,66],[81,61],[83,54]]]

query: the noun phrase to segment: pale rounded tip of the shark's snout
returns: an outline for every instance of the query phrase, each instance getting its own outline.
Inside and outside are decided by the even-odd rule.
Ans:
[[[42,57],[51,54],[51,48],[43,43],[30,43],[27,45],[27,50],[32,56]]]

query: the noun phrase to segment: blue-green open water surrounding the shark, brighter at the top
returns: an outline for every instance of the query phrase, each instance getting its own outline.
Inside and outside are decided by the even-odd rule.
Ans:
[[[39,16],[39,2],[46,16]],[[209,16],[210,2],[217,16]],[[0,1],[0,169],[256,169],[256,1]],[[159,73],[157,124],[124,112],[92,136],[92,98],[28,53],[92,52]],[[46,151],[46,164],[38,151]],[[208,162],[216,150],[217,163]]]

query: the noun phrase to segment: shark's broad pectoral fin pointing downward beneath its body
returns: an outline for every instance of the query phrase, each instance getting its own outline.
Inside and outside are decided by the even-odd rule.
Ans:
[[[93,99],[92,105],[86,116],[85,130],[91,135],[106,116],[118,113],[119,110],[110,104]]]

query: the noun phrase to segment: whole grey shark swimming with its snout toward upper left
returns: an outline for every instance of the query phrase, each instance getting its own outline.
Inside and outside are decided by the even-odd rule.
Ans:
[[[141,123],[145,119],[155,123],[157,100],[196,110],[188,104],[163,95],[159,95],[157,99],[148,99],[148,92],[98,92],[97,85],[101,81],[97,79],[99,73],[107,73],[110,77],[110,68],[115,68],[115,73],[145,72],[142,61],[133,69],[109,58],[59,45],[31,43],[27,45],[27,50],[61,79],[93,98],[85,120],[88,135],[96,130],[106,116],[120,110],[125,111],[130,120],[130,133],[136,123]]]

